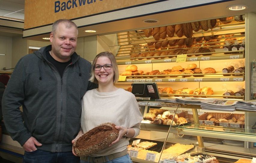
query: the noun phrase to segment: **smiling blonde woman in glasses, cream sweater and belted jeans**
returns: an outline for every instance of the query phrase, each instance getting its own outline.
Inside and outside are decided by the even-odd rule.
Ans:
[[[118,77],[114,55],[109,52],[99,53],[93,60],[90,78],[91,82],[99,84],[99,88],[87,91],[82,99],[82,130],[77,137],[105,122],[114,123],[119,130],[119,136],[107,148],[81,157],[81,163],[93,162],[95,159],[102,163],[132,162],[127,153],[127,145],[130,137],[139,135],[143,117],[135,96],[114,86]]]

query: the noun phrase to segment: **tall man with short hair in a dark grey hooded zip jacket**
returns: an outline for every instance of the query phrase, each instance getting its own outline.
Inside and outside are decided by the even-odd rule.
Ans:
[[[77,37],[75,23],[57,20],[52,45],[22,57],[14,68],[2,106],[8,132],[25,150],[23,162],[79,162],[72,140],[80,129],[81,98],[96,85],[88,81],[90,62],[75,53]]]

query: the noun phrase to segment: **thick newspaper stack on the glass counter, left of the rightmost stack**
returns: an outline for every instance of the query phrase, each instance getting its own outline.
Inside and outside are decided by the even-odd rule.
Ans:
[[[209,99],[201,102],[203,110],[235,111],[236,100]]]

